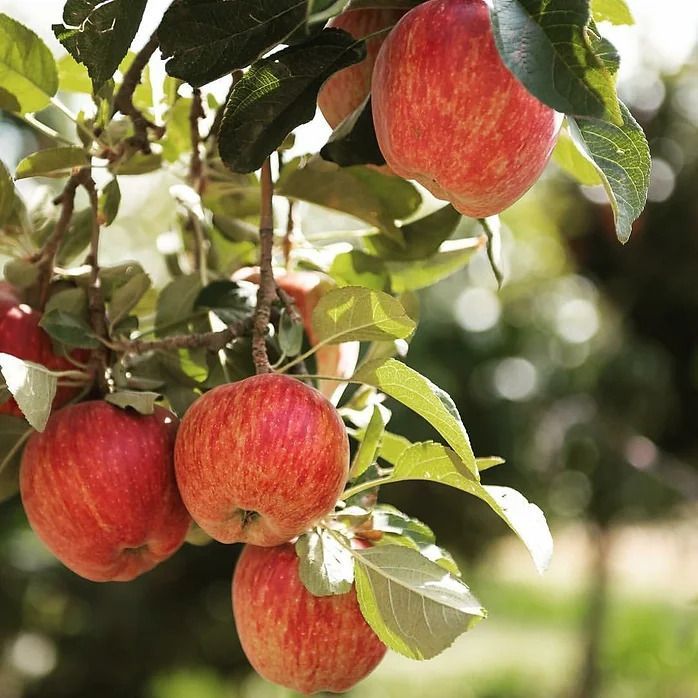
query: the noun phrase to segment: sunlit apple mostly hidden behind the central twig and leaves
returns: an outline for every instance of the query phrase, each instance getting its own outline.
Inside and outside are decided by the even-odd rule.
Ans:
[[[233,277],[242,281],[259,283],[259,269],[244,267],[238,270]],[[303,320],[305,333],[311,345],[317,344],[317,337],[313,330],[313,310],[320,298],[328,291],[335,288],[332,279],[321,272],[315,271],[290,271],[283,269],[274,270],[274,278],[279,286],[293,298],[298,312]],[[359,359],[359,342],[343,342],[342,344],[327,344],[317,350],[315,354],[315,367],[321,376],[337,376],[349,378],[356,369]],[[345,383],[341,381],[319,381],[320,392],[333,403],[337,403],[341,397]]]

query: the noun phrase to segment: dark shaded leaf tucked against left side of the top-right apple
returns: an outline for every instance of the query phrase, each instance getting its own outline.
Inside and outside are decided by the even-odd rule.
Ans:
[[[342,167],[350,165],[385,165],[373,127],[371,95],[332,132],[320,150],[325,160]]]

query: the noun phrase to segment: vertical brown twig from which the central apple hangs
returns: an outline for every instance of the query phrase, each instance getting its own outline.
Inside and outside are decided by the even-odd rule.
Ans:
[[[252,360],[257,373],[271,373],[267,355],[266,335],[271,316],[271,304],[276,296],[276,281],[272,268],[272,250],[274,246],[274,211],[272,197],[274,183],[271,178],[271,162],[264,161],[261,173],[261,211],[259,216],[259,288],[257,289],[257,307],[254,313],[252,332]]]

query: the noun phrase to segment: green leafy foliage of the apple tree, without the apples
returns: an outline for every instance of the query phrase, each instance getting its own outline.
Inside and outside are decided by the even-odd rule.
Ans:
[[[15,179],[72,177],[97,164],[109,173],[99,187],[97,210],[78,210],[61,230],[65,200],[62,210],[48,201],[27,210],[0,166],[0,243],[13,257],[5,278],[28,299],[40,297],[42,250],[60,233],[41,325],[61,351],[108,351],[107,399],[144,413],[163,400],[182,415],[202,392],[254,373],[244,331],[254,292],[230,280],[258,258],[262,194],[253,173],[313,117],[327,78],[365,56],[365,42],[326,28],[328,18],[351,8],[416,4],[180,0],[157,31],[168,72],[160,104],[147,66],[139,67],[142,56],[129,53],[145,0],[68,0],[54,32],[69,55],[58,63],[33,32],[0,15],[0,108],[52,141],[19,163]],[[591,167],[609,191],[619,237],[626,240],[644,205],[649,155],[642,131],[615,93],[617,54],[595,24],[626,21],[622,7],[622,0],[594,3],[593,12],[584,0],[495,0],[492,19],[505,63],[533,94],[567,114],[569,138],[560,161],[575,172]],[[130,85],[134,66],[137,86]],[[225,105],[210,94],[199,104],[198,88],[229,75]],[[60,91],[90,94],[93,108],[70,113]],[[52,132],[34,116],[47,107],[69,115],[74,138]],[[210,117],[206,136],[200,133],[201,113]],[[156,115],[163,126],[152,128]],[[340,286],[313,313],[314,347],[301,340],[300,327],[281,304],[274,308],[267,344],[281,372],[312,361],[325,345],[366,345],[351,378],[361,387],[341,406],[356,442],[352,481],[335,516],[299,539],[302,578],[319,595],[344,593],[355,584],[362,611],[381,639],[407,656],[427,658],[472,627],[484,610],[428,527],[376,503],[379,486],[428,480],[474,495],[523,540],[541,570],[552,541],[537,507],[514,490],[481,483],[481,471],[500,461],[475,457],[450,397],[394,358],[415,330],[411,292],[463,267],[485,239],[470,235],[470,223],[450,206],[418,217],[418,189],[367,166],[382,162],[369,115],[370,105],[363,105],[320,155],[279,168],[278,195],[349,214],[365,225],[353,234],[335,234],[350,242],[349,251],[328,256],[304,249],[295,257]],[[95,223],[107,227],[118,216],[119,179],[160,169],[181,180],[172,197],[183,251],[165,255],[169,284],[154,289],[135,262],[98,269],[92,259],[91,268],[81,265]],[[93,287],[105,306],[103,333],[91,315]],[[240,331],[226,335],[232,327]],[[209,335],[211,341],[199,346],[178,341]],[[11,394],[38,430],[61,380],[83,377],[85,391],[95,389],[89,374],[66,375],[9,355],[0,355],[0,370],[5,397]],[[447,445],[410,443],[388,432],[385,396],[422,416]],[[0,431],[6,447],[0,471],[6,473],[16,468],[29,431],[9,417]],[[374,545],[352,544],[361,538]]]

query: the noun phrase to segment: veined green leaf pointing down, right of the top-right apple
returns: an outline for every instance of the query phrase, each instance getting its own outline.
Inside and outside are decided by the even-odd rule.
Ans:
[[[568,118],[568,124],[577,146],[596,164],[613,208],[616,235],[627,242],[647,202],[652,160],[642,128],[622,103],[621,113],[622,126],[581,118]]]

